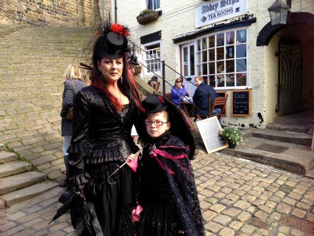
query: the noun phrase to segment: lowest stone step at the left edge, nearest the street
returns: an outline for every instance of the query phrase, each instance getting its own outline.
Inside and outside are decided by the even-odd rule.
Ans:
[[[6,206],[11,206],[13,204],[20,203],[27,199],[38,196],[56,186],[58,186],[58,183],[46,180],[41,183],[33,184],[29,187],[4,194],[1,196],[1,198],[6,202]]]

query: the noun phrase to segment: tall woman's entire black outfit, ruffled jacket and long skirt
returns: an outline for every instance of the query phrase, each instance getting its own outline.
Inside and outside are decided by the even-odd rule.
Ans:
[[[138,150],[131,139],[138,117],[132,100],[117,113],[107,97],[91,86],[80,90],[75,99],[69,183],[73,189],[84,189],[87,201],[94,203],[104,236],[133,236],[134,174],[126,166],[112,179],[115,185],[106,180],[115,170],[112,164],[120,166]]]

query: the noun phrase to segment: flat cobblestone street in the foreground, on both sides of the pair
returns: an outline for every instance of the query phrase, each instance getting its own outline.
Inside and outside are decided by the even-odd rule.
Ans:
[[[192,162],[207,236],[314,235],[314,180],[202,150]],[[71,235],[69,212],[48,225],[62,191],[0,211],[0,236]]]

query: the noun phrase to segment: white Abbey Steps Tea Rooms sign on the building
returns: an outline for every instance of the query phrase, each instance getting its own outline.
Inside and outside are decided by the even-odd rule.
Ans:
[[[196,7],[196,27],[243,15],[247,0],[209,0]]]

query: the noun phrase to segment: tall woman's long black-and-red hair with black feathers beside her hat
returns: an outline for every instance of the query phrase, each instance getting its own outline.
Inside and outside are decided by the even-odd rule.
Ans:
[[[91,78],[91,86],[95,87],[96,89],[99,89],[100,91],[104,92],[105,95],[109,98],[111,101],[112,106],[117,112],[120,112],[123,108],[123,105],[120,103],[120,101],[109,92],[107,87],[105,86],[105,82],[101,78],[101,72],[98,70],[98,61],[100,62],[105,57],[105,36],[108,32],[110,32],[110,23],[105,23],[99,28],[98,37],[95,41],[94,47],[93,47],[93,55],[92,55],[92,78]],[[127,30],[127,28],[126,28]],[[123,92],[128,92],[131,95],[131,99],[135,102],[135,105],[144,112],[145,109],[143,108],[141,104],[141,98],[139,90],[137,89],[137,86],[135,84],[134,78],[128,68],[130,68],[129,62],[127,60],[128,58],[128,39],[126,36],[124,36],[124,55],[123,58],[123,71],[122,71],[122,83],[119,79],[118,86]],[[131,102],[131,101],[130,101]]]

